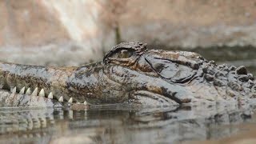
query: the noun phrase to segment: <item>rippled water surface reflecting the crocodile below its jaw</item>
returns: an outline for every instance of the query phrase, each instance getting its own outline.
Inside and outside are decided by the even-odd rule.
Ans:
[[[0,143],[148,143],[224,138],[254,122],[254,107],[1,109]]]

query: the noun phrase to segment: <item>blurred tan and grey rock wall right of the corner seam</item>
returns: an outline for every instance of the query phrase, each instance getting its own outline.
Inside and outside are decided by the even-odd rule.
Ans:
[[[162,46],[256,46],[255,0],[130,0],[119,26],[124,41]]]

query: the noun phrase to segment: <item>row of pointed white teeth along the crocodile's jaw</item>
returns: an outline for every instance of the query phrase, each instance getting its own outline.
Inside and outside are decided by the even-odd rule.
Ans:
[[[28,89],[26,90],[26,92],[25,92],[25,89],[26,89],[25,86],[22,87],[22,89],[18,92],[18,94],[26,94],[26,95],[30,95],[30,96],[38,96],[38,97],[42,97],[42,98],[54,99],[54,94],[53,94],[52,92],[50,92],[50,93],[48,94],[48,96],[46,96],[44,89],[40,90],[39,93],[38,93],[38,87],[36,87],[33,92],[30,90],[30,88],[28,88]],[[10,91],[11,91],[12,93],[17,93],[17,87],[15,86],[15,87],[14,87],[12,90],[10,90]],[[58,100],[58,102],[64,102],[63,96],[57,98],[56,100]],[[70,104],[72,104],[72,103],[74,103],[74,100],[73,100],[73,98],[71,97],[67,102],[70,103]],[[80,102],[76,102],[76,103],[80,104]],[[87,102],[84,101],[83,104],[87,105]]]

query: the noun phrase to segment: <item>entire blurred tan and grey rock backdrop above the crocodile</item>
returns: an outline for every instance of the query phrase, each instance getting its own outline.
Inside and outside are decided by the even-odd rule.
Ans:
[[[256,0],[0,0],[0,59],[71,66],[119,42],[256,63]]]

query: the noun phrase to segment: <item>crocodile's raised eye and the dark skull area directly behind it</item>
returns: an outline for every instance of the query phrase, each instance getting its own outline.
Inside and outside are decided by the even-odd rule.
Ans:
[[[123,42],[110,50],[103,62],[128,67],[169,82],[184,83],[193,78],[199,66],[207,61],[193,52],[147,50],[142,42]]]

